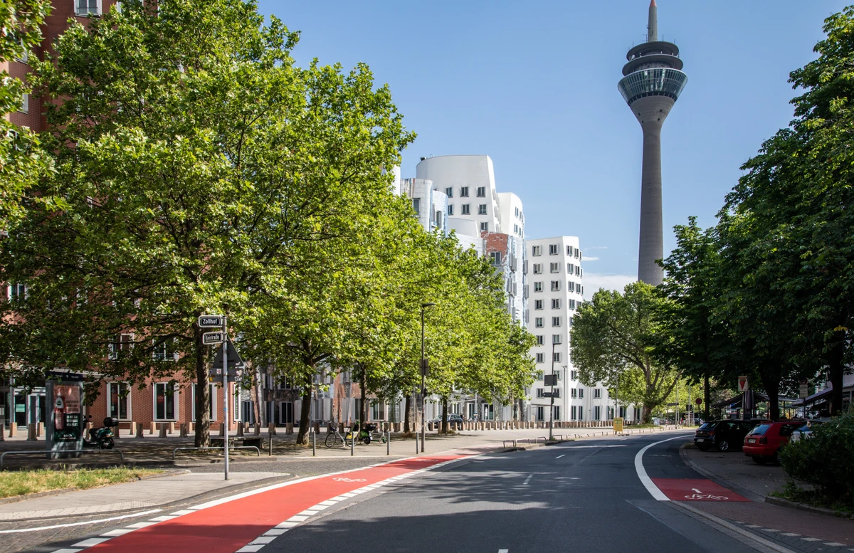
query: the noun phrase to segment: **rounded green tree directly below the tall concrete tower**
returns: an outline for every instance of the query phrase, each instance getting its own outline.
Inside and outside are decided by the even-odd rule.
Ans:
[[[633,282],[622,294],[600,289],[573,319],[571,352],[579,380],[585,386],[618,385],[623,402],[643,405],[643,422],[650,421],[681,375],[669,364],[670,356],[660,354],[668,341],[662,320],[670,309],[670,300],[656,288]]]

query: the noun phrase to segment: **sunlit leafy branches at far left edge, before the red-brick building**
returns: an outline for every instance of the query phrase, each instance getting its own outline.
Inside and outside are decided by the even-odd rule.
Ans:
[[[50,13],[48,0],[4,0],[0,3],[0,64],[24,59],[42,42],[41,26]],[[33,58],[35,56],[33,55]],[[29,87],[0,71],[0,230],[10,230],[26,203],[60,207],[53,196],[32,195],[38,178],[51,170],[50,156],[32,131],[13,125],[6,114],[20,109]]]

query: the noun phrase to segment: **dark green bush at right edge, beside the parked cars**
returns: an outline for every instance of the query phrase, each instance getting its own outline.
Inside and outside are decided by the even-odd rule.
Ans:
[[[816,426],[812,437],[790,442],[780,463],[790,479],[815,487],[821,504],[854,505],[854,414]]]

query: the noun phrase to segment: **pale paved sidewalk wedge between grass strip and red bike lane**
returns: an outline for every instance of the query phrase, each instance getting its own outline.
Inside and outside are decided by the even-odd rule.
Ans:
[[[182,472],[160,478],[149,478],[0,504],[0,521],[96,515],[115,511],[154,508],[202,493],[216,492],[228,486],[251,484],[274,478],[285,479],[287,476],[288,474],[273,472],[232,472],[229,474],[229,480],[223,480],[222,473]]]

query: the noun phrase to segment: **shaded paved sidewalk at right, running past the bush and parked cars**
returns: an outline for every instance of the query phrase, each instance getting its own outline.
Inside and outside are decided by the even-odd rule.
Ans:
[[[696,502],[691,504],[693,508],[789,549],[810,553],[854,550],[854,520],[765,503],[769,493],[781,490],[786,484],[786,474],[780,467],[753,463],[741,451],[721,453],[682,447],[680,452],[693,469],[752,500],[750,503]]]

